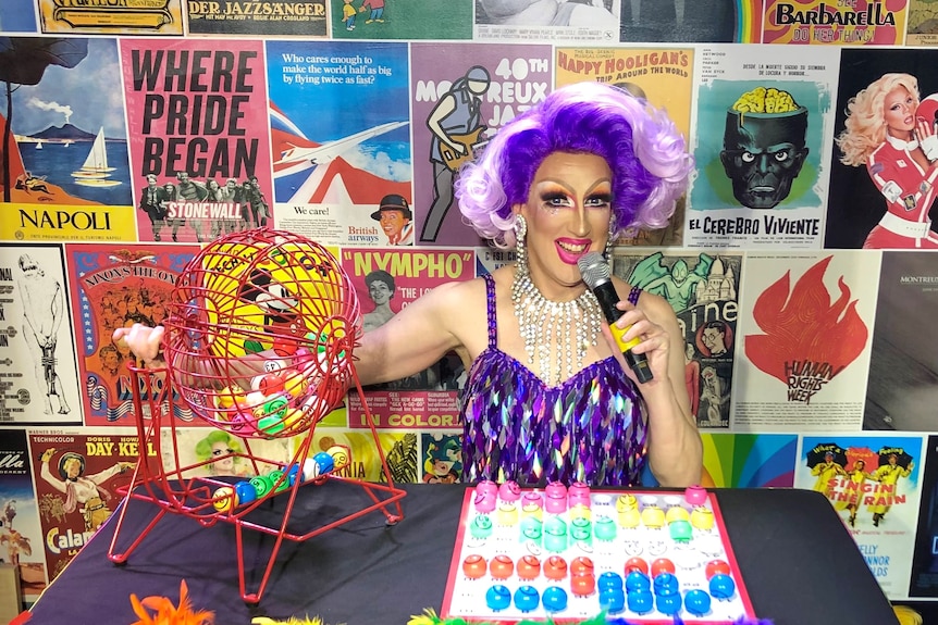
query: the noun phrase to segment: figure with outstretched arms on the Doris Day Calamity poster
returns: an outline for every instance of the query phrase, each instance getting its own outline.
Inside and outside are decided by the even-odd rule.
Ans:
[[[71,513],[77,510],[82,513],[85,518],[86,532],[98,529],[111,515],[111,509],[108,508],[111,493],[101,485],[128,468],[133,468],[134,463],[116,462],[100,473],[85,475],[85,457],[69,451],[59,459],[60,479],[53,476],[49,470],[49,461],[55,455],[55,451],[54,447],[50,447],[42,452],[39,459],[42,462],[39,475],[55,490],[65,495],[65,512]]]

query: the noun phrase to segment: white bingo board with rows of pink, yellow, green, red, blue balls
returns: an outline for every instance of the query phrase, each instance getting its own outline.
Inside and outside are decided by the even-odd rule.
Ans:
[[[754,620],[716,500],[703,488],[467,489],[442,616],[635,624]]]

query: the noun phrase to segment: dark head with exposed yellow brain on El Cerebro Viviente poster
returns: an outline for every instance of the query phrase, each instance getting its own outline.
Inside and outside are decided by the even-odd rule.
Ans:
[[[806,134],[807,109],[787,91],[756,87],[730,107],[719,159],[739,203],[774,209],[789,196],[807,158]]]

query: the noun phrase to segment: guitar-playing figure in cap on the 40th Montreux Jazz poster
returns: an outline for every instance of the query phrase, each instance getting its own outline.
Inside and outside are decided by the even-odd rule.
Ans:
[[[490,82],[489,71],[473,65],[453,83],[427,117],[427,127],[433,135],[430,143],[433,203],[420,230],[421,241],[436,240],[443,218],[453,205],[456,172],[464,162],[472,160],[474,150],[484,143],[481,96],[489,90]]]

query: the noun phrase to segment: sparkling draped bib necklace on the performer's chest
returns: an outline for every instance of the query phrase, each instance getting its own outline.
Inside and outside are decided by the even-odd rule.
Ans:
[[[518,266],[511,283],[511,303],[518,317],[518,329],[524,341],[528,364],[538,357],[538,374],[552,386],[582,368],[587,349],[596,345],[602,323],[600,302],[585,289],[575,300],[554,302],[545,298],[531,282],[526,267]],[[576,352],[576,353],[575,353]]]

